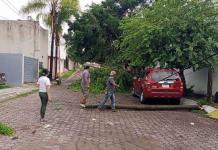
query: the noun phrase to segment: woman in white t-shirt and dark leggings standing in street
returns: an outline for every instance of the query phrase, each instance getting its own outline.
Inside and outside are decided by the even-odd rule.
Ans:
[[[49,74],[47,69],[43,69],[42,76],[38,79],[37,85],[39,87],[39,97],[41,99],[41,109],[40,109],[40,121],[44,122],[45,112],[48,101],[51,100],[50,97],[50,86],[51,82],[50,79],[47,77]]]

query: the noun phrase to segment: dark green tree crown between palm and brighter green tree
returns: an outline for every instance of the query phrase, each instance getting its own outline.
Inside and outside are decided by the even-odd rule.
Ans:
[[[117,54],[115,40],[121,35],[121,18],[134,12],[138,5],[147,0],[106,0],[76,16],[69,22],[69,32],[65,35],[68,55],[77,62],[93,61],[111,63]]]

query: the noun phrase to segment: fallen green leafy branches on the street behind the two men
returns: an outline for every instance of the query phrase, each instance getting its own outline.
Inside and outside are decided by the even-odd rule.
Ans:
[[[117,91],[118,92],[129,91],[132,85],[131,75],[122,69],[114,69],[111,67],[104,66],[101,68],[90,69],[91,93],[100,94],[104,92],[106,88],[106,82],[111,70],[115,70],[117,72],[117,75],[115,76],[115,81],[117,82],[117,84],[120,85],[120,87],[117,88]],[[74,81],[69,88],[72,89],[73,91],[80,91],[81,90],[80,82],[81,82],[80,80]]]

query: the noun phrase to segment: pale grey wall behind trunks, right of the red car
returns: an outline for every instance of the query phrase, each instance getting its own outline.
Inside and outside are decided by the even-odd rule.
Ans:
[[[185,71],[187,86],[194,86],[194,92],[198,94],[207,94],[207,72],[208,69],[200,69],[193,71],[192,69]],[[213,95],[218,91],[218,65],[214,66],[213,72]]]

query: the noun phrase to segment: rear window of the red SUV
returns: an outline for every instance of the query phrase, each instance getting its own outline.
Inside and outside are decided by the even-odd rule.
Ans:
[[[152,73],[151,78],[154,81],[176,80],[179,79],[179,75],[175,71],[156,71]]]

